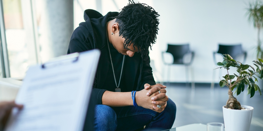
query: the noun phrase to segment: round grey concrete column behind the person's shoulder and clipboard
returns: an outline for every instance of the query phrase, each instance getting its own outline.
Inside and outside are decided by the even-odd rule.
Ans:
[[[73,32],[73,0],[41,0],[39,44],[41,62],[67,54]]]

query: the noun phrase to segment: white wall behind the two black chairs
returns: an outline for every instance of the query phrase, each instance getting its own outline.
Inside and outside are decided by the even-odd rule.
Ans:
[[[122,8],[128,3],[124,0],[115,0]],[[167,81],[167,67],[162,62],[161,52],[167,50],[167,43],[190,43],[191,50],[195,52],[193,61],[195,82],[211,82],[213,63],[212,52],[218,50],[218,43],[242,43],[248,52],[247,64],[255,57],[256,30],[246,17],[246,8],[249,1],[240,0],[141,0],[152,6],[160,14],[160,25],[157,43],[150,51],[150,58],[154,60],[155,67],[162,72],[162,78]],[[76,1],[75,1],[76,3]],[[79,0],[85,10],[96,10],[94,0]],[[89,4],[90,3],[90,4]],[[77,4],[75,10],[75,28],[83,20],[83,12]],[[77,10],[77,11],[76,11]],[[119,11],[112,1],[102,0],[102,15],[108,11]],[[217,56],[220,58],[220,55]],[[218,59],[218,61],[221,61]],[[232,69],[234,71],[234,69]],[[233,72],[232,71],[232,72]],[[182,65],[173,65],[171,82],[186,82],[185,68]],[[219,75],[217,72],[217,81]],[[222,70],[222,74],[225,71]]]

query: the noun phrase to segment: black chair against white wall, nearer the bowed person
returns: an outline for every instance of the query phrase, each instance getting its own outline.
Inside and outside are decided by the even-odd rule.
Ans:
[[[164,61],[164,53],[170,53],[172,54],[173,56],[173,63],[166,63]],[[188,53],[191,53],[191,61],[189,63],[184,63],[183,62],[183,57],[185,54],[188,54]],[[162,52],[162,60],[163,60],[163,63],[165,65],[168,66],[168,70],[167,70],[167,82],[169,81],[169,77],[170,77],[170,69],[171,69],[171,65],[175,65],[175,64],[180,64],[180,65],[185,65],[186,67],[186,83],[189,82],[189,66],[191,65],[191,63],[193,62],[193,58],[194,58],[194,52],[193,51],[190,51],[190,48],[189,48],[189,44],[184,44],[184,45],[171,45],[171,44],[168,44],[168,48],[167,48],[167,51],[166,52]],[[192,76],[192,88],[195,87],[194,85],[194,81],[193,81],[193,70],[191,70],[191,76]]]

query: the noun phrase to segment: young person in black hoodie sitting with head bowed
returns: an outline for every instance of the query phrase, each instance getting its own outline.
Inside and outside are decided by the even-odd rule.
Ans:
[[[158,17],[152,7],[129,0],[120,13],[102,16],[85,10],[85,22],[72,33],[68,54],[101,50],[91,96],[95,130],[172,127],[176,106],[165,94],[166,86],[155,83],[148,55]]]

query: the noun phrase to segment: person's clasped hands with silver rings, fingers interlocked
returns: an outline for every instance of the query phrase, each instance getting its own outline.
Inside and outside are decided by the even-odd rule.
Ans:
[[[137,105],[159,113],[162,112],[165,109],[168,101],[168,96],[165,94],[165,88],[166,86],[163,86],[161,84],[156,84],[153,86],[144,84],[144,89],[139,91],[140,95],[138,94],[136,96],[136,99],[137,97],[141,97],[136,100]],[[159,90],[161,93],[159,93]],[[157,105],[160,105],[161,108],[158,108]]]

